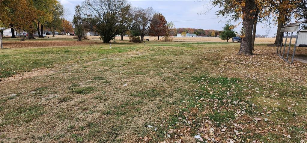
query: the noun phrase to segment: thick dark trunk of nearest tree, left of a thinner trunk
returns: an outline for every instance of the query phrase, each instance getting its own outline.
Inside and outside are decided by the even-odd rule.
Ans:
[[[251,39],[254,25],[254,16],[255,12],[251,12],[255,9],[256,3],[255,1],[245,1],[245,6],[242,8],[242,12],[245,14],[243,17],[243,27],[242,27],[242,40],[240,45],[239,53],[240,55],[253,55],[252,47],[251,47]]]

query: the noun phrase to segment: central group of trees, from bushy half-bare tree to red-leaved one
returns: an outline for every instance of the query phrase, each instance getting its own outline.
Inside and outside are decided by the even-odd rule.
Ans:
[[[100,34],[104,43],[109,43],[116,35],[128,34],[136,42],[144,41],[144,36],[172,36],[176,29],[172,22],[156,13],[152,7],[146,9],[131,7],[126,0],[87,0],[75,7],[72,21],[78,41],[85,29],[92,29]],[[122,40],[121,38],[121,40]]]

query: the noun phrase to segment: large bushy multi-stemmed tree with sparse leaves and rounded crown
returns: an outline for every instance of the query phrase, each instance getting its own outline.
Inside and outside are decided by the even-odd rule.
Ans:
[[[133,23],[126,0],[86,0],[81,12],[83,21],[101,35],[104,43],[130,29]]]

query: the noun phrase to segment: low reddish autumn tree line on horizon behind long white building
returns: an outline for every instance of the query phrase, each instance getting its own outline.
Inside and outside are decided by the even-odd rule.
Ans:
[[[196,34],[197,36],[206,36],[206,37],[215,37],[220,35],[219,30],[204,30],[204,29],[195,29],[195,28],[177,28],[177,33],[190,33],[190,34]],[[174,35],[175,36],[175,35]]]

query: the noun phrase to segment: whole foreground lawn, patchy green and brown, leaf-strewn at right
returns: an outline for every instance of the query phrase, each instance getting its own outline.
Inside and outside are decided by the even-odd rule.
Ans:
[[[255,45],[251,57],[238,48],[118,42],[3,49],[1,141],[307,141],[307,64],[286,64],[266,44]]]

